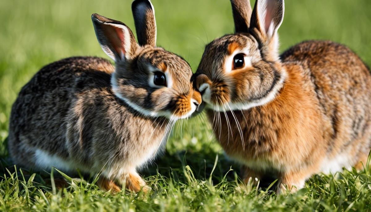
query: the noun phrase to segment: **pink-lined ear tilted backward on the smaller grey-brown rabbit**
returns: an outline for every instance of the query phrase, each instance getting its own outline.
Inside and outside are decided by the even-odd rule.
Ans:
[[[128,26],[96,13],[92,14],[92,21],[99,44],[115,62],[134,57],[138,44]]]

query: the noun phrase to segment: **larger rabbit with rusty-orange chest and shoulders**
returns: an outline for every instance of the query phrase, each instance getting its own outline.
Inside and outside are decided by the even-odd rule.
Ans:
[[[348,47],[305,41],[278,53],[283,0],[231,0],[234,34],[207,44],[194,84],[245,183],[295,192],[316,173],[362,168],[371,145],[370,69]]]

